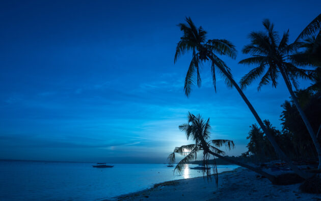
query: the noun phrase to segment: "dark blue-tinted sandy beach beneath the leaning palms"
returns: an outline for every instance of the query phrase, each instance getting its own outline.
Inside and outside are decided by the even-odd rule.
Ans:
[[[321,194],[302,193],[299,184],[278,186],[239,168],[219,175],[219,185],[202,177],[182,179],[116,200],[321,200]]]

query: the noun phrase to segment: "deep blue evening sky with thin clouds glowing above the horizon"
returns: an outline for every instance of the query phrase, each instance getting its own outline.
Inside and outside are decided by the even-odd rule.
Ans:
[[[240,155],[255,119],[220,78],[215,93],[207,65],[201,88],[184,95],[191,55],[174,64],[177,24],[190,16],[208,39],[231,41],[237,58],[222,58],[239,81],[253,68],[237,64],[249,56],[241,50],[263,19],[289,29],[293,42],[319,8],[320,1],[2,1],[0,159],[166,162],[176,146],[193,143],[178,129],[189,111],[210,118],[211,138],[233,140],[228,154]],[[283,80],[256,87],[245,94],[281,129]]]

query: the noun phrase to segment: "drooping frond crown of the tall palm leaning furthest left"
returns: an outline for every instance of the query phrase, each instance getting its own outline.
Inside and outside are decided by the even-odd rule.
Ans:
[[[225,64],[225,62],[217,56],[217,54],[226,55],[235,59],[235,47],[232,45],[232,43],[224,39],[206,40],[207,32],[201,26],[197,28],[190,17],[186,17],[185,21],[187,22],[186,24],[178,24],[180,30],[183,31],[183,36],[180,38],[180,41],[177,44],[174,58],[175,63],[181,55],[187,52],[192,52],[193,55],[184,82],[185,94],[189,96],[191,87],[195,84],[195,80],[197,86],[201,86],[200,64],[202,62],[206,62],[207,60],[210,61],[213,85],[215,87],[215,90],[216,71],[220,72],[221,76],[225,79],[228,86],[232,86],[230,80],[227,79],[226,75],[216,67],[220,66],[221,68],[225,69],[225,71],[231,76],[230,69]]]

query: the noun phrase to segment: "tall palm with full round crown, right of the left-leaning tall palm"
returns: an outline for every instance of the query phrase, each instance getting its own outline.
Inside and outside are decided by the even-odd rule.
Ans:
[[[303,70],[297,68],[291,62],[288,61],[288,55],[295,51],[298,43],[293,43],[288,45],[289,32],[286,31],[283,37],[278,41],[279,35],[274,31],[273,23],[270,20],[263,20],[263,26],[265,32],[257,31],[251,32],[249,38],[251,39],[251,44],[246,45],[242,52],[245,54],[251,54],[253,57],[243,59],[239,61],[242,64],[255,64],[258,65],[256,68],[251,70],[246,74],[241,80],[240,85],[242,88],[250,85],[255,79],[262,76],[261,81],[258,85],[258,90],[260,90],[262,85],[269,84],[272,82],[272,86],[276,87],[278,82],[277,78],[281,74],[285,81],[288,91],[292,97],[293,102],[297,106],[297,109],[308,129],[308,132],[312,138],[314,146],[318,153],[319,166],[321,169],[321,147],[317,141],[313,128],[307,119],[303,109],[301,108],[298,98],[292,90],[292,85],[295,88],[297,86],[297,78],[301,77],[304,79],[310,78],[308,74],[311,73],[309,70]],[[267,70],[266,70],[267,69]]]

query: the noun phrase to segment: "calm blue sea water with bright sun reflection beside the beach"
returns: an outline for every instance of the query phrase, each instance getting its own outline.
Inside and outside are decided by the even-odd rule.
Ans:
[[[0,160],[0,200],[100,200],[159,182],[202,176],[189,168],[182,175],[173,174],[174,168],[166,164],[114,164],[106,169],[92,164]],[[218,171],[235,168],[219,165]]]

